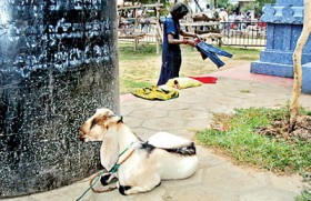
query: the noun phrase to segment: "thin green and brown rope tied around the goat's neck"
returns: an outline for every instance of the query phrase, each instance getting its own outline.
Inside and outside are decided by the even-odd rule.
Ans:
[[[121,162],[118,163],[120,157],[126,153],[133,144],[134,142],[132,142],[127,149],[124,149],[120,154],[119,154],[119,158],[116,162],[116,164],[112,167],[112,169],[110,171],[108,171],[108,173],[116,173],[118,171],[118,169],[120,168],[120,165],[126,162],[126,160],[128,160],[132,153],[136,151],[136,149],[133,149]],[[108,192],[108,191],[112,191],[114,189],[117,189],[117,187],[109,187],[108,189],[106,190],[102,190],[102,191],[98,191],[98,190],[94,190],[93,187],[94,184],[98,182],[98,180],[101,178],[101,175],[103,173],[106,173],[107,171],[106,170],[102,170],[101,172],[97,173],[91,180],[90,180],[90,187],[77,199],[77,201],[80,201],[89,190],[92,190],[93,192],[96,193],[102,193],[102,192]],[[94,182],[93,182],[94,181]]]

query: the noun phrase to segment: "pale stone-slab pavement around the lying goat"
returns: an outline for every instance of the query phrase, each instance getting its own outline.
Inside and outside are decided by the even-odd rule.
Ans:
[[[169,101],[148,101],[132,96],[121,97],[124,122],[147,140],[163,130],[192,139],[193,129],[212,122],[213,113],[233,112],[234,108],[284,105],[291,98],[292,80],[249,73],[243,66],[213,73],[215,84],[180,90],[180,97]],[[301,96],[302,105],[311,109],[311,96]],[[263,170],[235,165],[228,158],[198,145],[200,167],[185,180],[163,181],[149,193],[123,197],[117,190],[83,200],[109,201],[292,201],[302,190],[299,175],[280,177]],[[89,179],[69,187],[37,193],[12,201],[76,200],[89,187]]]

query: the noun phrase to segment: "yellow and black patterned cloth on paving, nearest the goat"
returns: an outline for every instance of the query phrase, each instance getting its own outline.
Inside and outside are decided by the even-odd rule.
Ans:
[[[140,88],[132,92],[133,96],[147,99],[147,100],[170,100],[179,97],[177,90],[164,90],[158,87],[152,88]]]

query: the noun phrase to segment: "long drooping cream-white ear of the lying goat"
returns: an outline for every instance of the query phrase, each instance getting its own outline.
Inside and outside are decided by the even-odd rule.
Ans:
[[[110,171],[119,158],[119,144],[117,129],[108,129],[100,148],[100,161],[106,170]]]

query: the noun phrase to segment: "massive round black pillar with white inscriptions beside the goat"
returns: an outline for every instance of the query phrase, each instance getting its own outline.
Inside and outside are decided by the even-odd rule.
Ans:
[[[97,108],[119,112],[118,71],[116,1],[0,1],[0,198],[101,169],[79,128]]]

